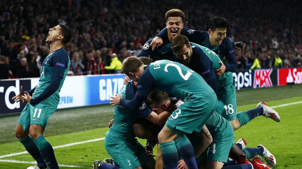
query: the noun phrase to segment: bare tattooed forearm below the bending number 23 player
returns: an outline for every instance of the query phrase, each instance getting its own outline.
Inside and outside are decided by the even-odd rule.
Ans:
[[[196,135],[200,138],[200,142],[198,143],[198,146],[196,149],[194,149],[194,155],[195,158],[199,157],[202,152],[204,152],[205,149],[207,149],[208,146],[213,141],[213,138],[210,134],[210,131],[207,129],[206,125],[201,129],[200,132],[195,132]]]

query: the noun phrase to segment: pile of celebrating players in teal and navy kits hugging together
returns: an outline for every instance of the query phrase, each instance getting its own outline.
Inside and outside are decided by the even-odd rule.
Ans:
[[[136,135],[140,135],[140,138],[146,138],[149,141],[158,138],[158,153],[161,152],[162,163],[158,156],[156,168],[270,168],[259,157],[255,157],[256,155],[262,155],[269,165],[275,165],[275,157],[263,145],[256,148],[245,148],[244,139],[239,140],[237,144],[234,142],[234,130],[259,115],[270,117],[277,122],[280,121],[278,113],[264,102],[260,102],[254,109],[237,114],[236,90],[231,73],[237,69],[233,47],[244,50],[245,44],[232,42],[226,38],[228,22],[224,18],[212,18],[208,32],[183,29],[185,15],[178,9],[168,11],[165,19],[166,28],[159,33],[159,37],[147,41],[137,55],[137,57],[150,57],[156,61],[148,65],[142,63],[137,57],[128,57],[123,61],[122,71],[127,75],[125,79],[131,78],[137,82],[137,91],[133,92],[131,96],[128,95],[129,97],[127,94],[123,95],[123,91],[121,91],[121,95],[111,97],[110,103],[115,106],[115,112],[114,121],[108,134],[126,125],[133,125],[134,120],[137,119],[137,116],[133,117],[134,112],[146,108],[146,102],[143,100],[148,96],[149,90],[155,88],[183,101],[182,104],[177,104],[177,109],[167,119],[166,115],[171,111],[171,109],[167,111],[167,108],[171,108],[171,105],[174,104],[170,104],[171,101],[168,101],[167,97],[162,97],[163,94],[156,95],[151,92],[150,94],[153,93],[154,96],[153,100],[147,99],[149,106],[159,114],[154,116],[156,121],[159,120],[158,118],[163,118],[165,125],[158,135],[154,132],[146,132],[150,134],[144,136],[141,136],[140,133],[145,132],[134,127]],[[223,64],[223,57],[228,60],[228,65]],[[133,85],[133,81],[130,81],[127,86]],[[162,100],[164,101],[162,102]],[[122,114],[132,118],[130,123],[120,122],[118,108],[128,108],[128,111]],[[146,119],[155,123],[152,118]],[[111,139],[110,144],[112,145],[127,142],[114,140],[108,134],[106,138]],[[105,141],[105,146],[108,144]],[[140,144],[133,142],[133,145]],[[111,153],[111,151],[116,151],[112,148],[107,149],[106,147],[106,149],[122,168],[141,168],[140,159],[142,156],[146,158],[147,155],[137,154],[135,149],[129,147],[123,146],[123,149],[130,150],[125,152],[125,155],[127,154],[127,157],[132,156],[133,153],[137,155],[138,160],[137,158],[132,160],[136,161],[135,163],[131,163],[131,160],[126,162],[125,158],[119,158],[116,152]],[[207,152],[205,151],[201,155],[205,149]],[[147,154],[149,153],[152,154],[150,150]],[[178,162],[178,153],[183,161]],[[234,160],[228,161],[228,157]],[[202,158],[206,162],[201,161]],[[253,160],[250,161],[250,158]],[[95,161],[93,167],[119,168],[102,161]]]

